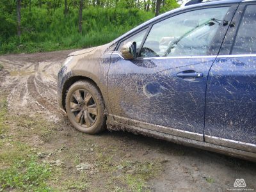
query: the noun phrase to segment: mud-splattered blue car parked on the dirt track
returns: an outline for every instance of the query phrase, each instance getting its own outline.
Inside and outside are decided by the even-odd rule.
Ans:
[[[191,4],[72,52],[58,95],[79,131],[129,131],[256,161],[256,1]]]

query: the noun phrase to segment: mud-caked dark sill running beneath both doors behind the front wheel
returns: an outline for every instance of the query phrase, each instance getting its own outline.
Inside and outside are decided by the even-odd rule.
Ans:
[[[203,150],[209,150],[211,152],[217,152],[220,154],[225,154],[228,156],[233,156],[240,159],[246,159],[248,161],[256,162],[256,154],[253,152],[246,152],[244,150],[238,150],[236,148],[223,147],[223,146],[215,145],[212,143],[206,143],[204,141],[196,141],[188,138],[182,138],[179,136],[173,136],[163,132],[157,132],[149,129],[144,129],[141,127],[136,127],[133,125],[118,123],[115,120],[108,120],[107,125],[108,125],[109,131],[128,131],[128,132],[132,132],[133,134],[142,134],[142,135],[150,136],[160,140],[171,141],[173,143],[185,145],[188,147],[201,148]]]

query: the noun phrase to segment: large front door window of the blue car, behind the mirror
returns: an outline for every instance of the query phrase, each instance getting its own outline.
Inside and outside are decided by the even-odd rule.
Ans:
[[[229,7],[195,10],[154,24],[140,57],[209,54],[214,35],[223,26],[228,10]]]

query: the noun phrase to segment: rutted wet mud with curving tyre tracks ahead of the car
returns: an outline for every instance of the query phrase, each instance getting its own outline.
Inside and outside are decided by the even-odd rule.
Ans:
[[[63,111],[58,106],[56,74],[66,53],[63,53],[62,60],[57,61],[43,61],[41,57],[38,57],[38,60],[36,58],[20,60],[17,55],[11,59],[10,56],[0,58],[0,63],[3,63],[6,72],[6,81],[1,84],[1,89],[10,93],[8,103],[11,111],[22,108],[24,110],[19,110],[19,113],[29,114],[38,111],[51,117],[54,115],[54,119],[63,115]]]

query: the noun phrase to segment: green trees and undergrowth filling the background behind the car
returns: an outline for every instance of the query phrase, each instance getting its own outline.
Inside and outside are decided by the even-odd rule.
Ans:
[[[92,47],[118,36],[154,17],[155,1],[84,0],[82,31],[78,31],[79,0],[22,1],[21,29],[17,36],[16,1],[0,1],[0,54],[43,52]],[[150,11],[146,11],[147,3]],[[175,0],[164,1],[161,12],[177,8]],[[30,9],[29,9],[30,7]]]

